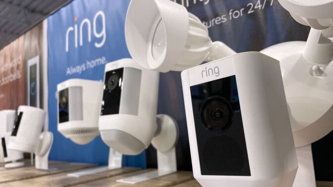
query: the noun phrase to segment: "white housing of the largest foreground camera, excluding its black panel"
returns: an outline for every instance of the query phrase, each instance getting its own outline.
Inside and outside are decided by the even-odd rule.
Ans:
[[[219,74],[202,76],[205,68],[216,67]],[[190,87],[233,75],[237,81],[251,175],[201,175]],[[259,52],[239,53],[185,70],[181,78],[193,174],[202,186],[292,186],[298,165],[277,60]]]

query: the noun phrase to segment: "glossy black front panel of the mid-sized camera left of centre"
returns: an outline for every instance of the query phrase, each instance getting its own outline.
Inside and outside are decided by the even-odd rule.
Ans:
[[[119,114],[124,68],[105,73],[101,116]]]

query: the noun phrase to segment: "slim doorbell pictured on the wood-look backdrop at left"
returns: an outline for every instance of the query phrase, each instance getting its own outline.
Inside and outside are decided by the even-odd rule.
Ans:
[[[28,105],[40,107],[39,56],[28,60]]]

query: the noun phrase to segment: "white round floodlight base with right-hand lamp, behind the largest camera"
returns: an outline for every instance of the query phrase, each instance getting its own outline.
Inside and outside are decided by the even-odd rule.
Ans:
[[[261,52],[280,61],[296,147],[333,130],[333,0],[279,0],[301,24],[306,42],[286,42]]]

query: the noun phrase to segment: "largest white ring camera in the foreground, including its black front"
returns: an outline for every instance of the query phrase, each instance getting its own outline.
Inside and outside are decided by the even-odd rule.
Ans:
[[[298,164],[277,60],[239,53],[181,78],[193,174],[202,186],[292,186]]]

